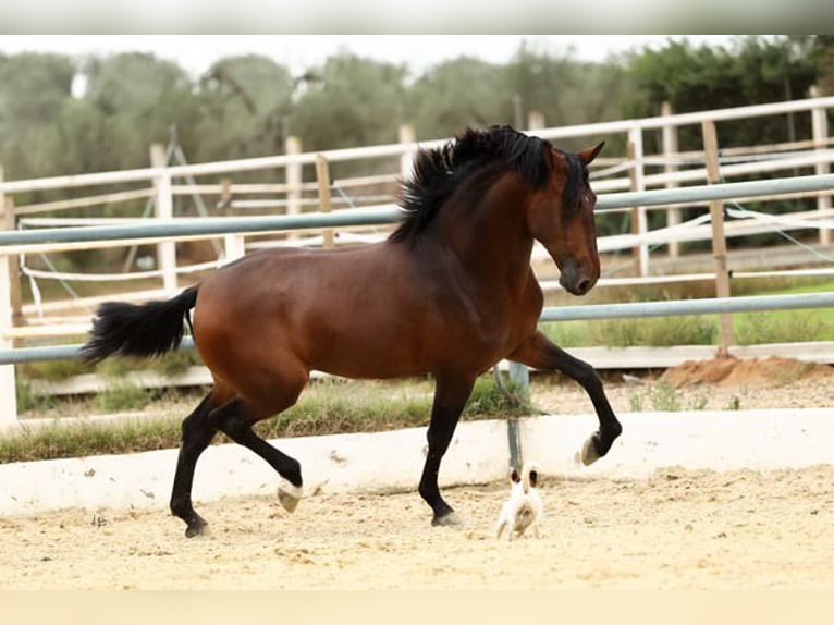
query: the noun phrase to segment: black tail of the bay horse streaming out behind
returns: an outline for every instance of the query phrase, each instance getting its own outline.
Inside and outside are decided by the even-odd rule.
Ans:
[[[82,356],[98,363],[113,355],[149,358],[176,350],[185,332],[184,321],[191,326],[188,310],[197,303],[197,289],[186,289],[165,302],[106,302],[96,312]]]

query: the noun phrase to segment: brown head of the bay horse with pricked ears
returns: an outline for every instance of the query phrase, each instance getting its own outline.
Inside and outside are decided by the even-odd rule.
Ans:
[[[597,196],[588,184],[588,164],[603,145],[579,154],[554,149],[550,181],[527,211],[530,233],[559,267],[559,283],[574,295],[585,295],[600,277]]]

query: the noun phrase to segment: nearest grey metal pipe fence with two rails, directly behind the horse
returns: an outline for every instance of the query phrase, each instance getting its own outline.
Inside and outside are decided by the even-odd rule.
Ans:
[[[774,193],[799,193],[834,189],[834,174],[796,176],[770,181],[726,183],[689,186],[636,193],[609,194],[599,198],[599,207],[617,208],[683,204],[688,201],[714,201],[735,197],[756,197]],[[100,247],[105,242],[158,242],[170,238],[205,238],[217,235],[226,237],[226,245],[242,249],[234,237],[246,233],[263,233],[304,229],[360,226],[389,224],[400,219],[401,211],[394,206],[336,211],[330,213],[303,213],[274,217],[169,219],[151,223],[130,225],[98,225],[84,228],[44,229],[37,231],[0,232],[0,322],[9,324],[10,281],[7,270],[11,255],[37,252],[45,245],[60,243],[79,248]],[[712,299],[687,299],[637,304],[608,304],[597,306],[571,306],[547,308],[542,321],[604,319],[622,317],[649,317],[673,315],[723,314],[748,310],[773,310],[792,308],[819,308],[834,306],[834,293],[815,293],[792,296],[760,296]],[[0,333],[5,327],[0,327]],[[187,345],[187,343],[186,343]],[[0,351],[0,424],[16,420],[14,384],[15,363],[73,358],[78,356],[79,345],[30,347]]]

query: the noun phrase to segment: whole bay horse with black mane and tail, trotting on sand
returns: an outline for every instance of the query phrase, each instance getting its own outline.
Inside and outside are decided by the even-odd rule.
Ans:
[[[433,377],[418,489],[433,525],[458,523],[438,487],[440,463],[476,378],[503,358],[576,380],[599,418],[581,458],[605,455],[622,427],[593,368],[537,330],[543,296],[530,267],[539,241],[566,291],[584,295],[597,282],[597,198],[587,166],[602,146],[571,154],[510,126],[469,128],[418,151],[401,184],[404,219],[383,242],[265,249],[171,299],[102,304],[83,347],[88,361],[163,354],[179,346],[188,322],[211,371],[211,391],[182,424],[173,480],[171,511],[186,536],[207,525],[191,493],[197,459],[218,431],[269,463],[281,504],[295,508],[301,464],[252,427],[292,406],[314,369]]]

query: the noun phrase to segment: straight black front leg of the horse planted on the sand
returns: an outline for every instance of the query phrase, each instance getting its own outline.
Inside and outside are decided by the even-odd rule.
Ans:
[[[456,525],[457,517],[454,510],[440,494],[438,486],[438,471],[440,461],[446,453],[452,442],[452,434],[461,418],[461,413],[469,399],[475,380],[466,376],[439,375],[434,389],[434,403],[431,408],[431,421],[426,438],[429,451],[426,455],[426,464],[420,478],[420,497],[426,500],[434,511],[432,525]]]

